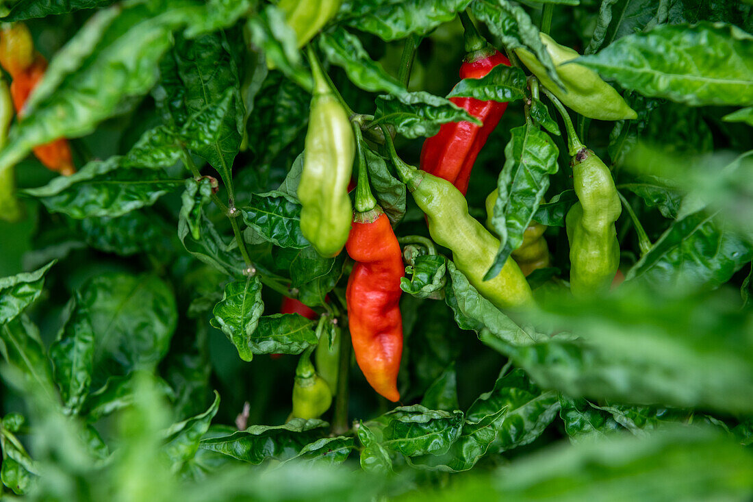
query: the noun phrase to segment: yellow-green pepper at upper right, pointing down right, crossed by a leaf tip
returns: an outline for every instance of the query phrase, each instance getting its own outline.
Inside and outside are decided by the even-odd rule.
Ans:
[[[515,49],[515,54],[544,87],[562,100],[562,103],[585,117],[602,121],[638,117],[635,110],[630,108],[614,87],[603,81],[598,73],[578,63],[568,63],[581,56],[578,52],[556,43],[544,33],[541,33],[541,42],[547,47],[557,75],[565,84],[564,90],[549,78],[544,66],[529,51]]]

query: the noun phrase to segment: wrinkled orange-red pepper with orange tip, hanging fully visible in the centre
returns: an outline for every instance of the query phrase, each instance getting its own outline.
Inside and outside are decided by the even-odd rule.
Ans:
[[[355,360],[374,390],[397,401],[403,352],[400,278],[405,271],[400,244],[377,207],[354,213],[345,246],[355,260],[346,289]]]

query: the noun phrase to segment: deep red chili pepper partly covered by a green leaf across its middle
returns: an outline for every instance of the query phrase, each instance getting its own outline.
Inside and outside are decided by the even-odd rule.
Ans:
[[[461,20],[463,17],[461,16]],[[476,32],[470,20],[463,21],[465,47],[468,54],[460,66],[460,78],[481,78],[498,65],[510,66],[510,60],[489,46]],[[489,134],[492,133],[508,103],[482,101],[470,97],[453,97],[450,101],[465,109],[483,122],[442,124],[439,133],[426,139],[421,150],[421,169],[434,176],[447,179],[465,195],[471,170]]]

